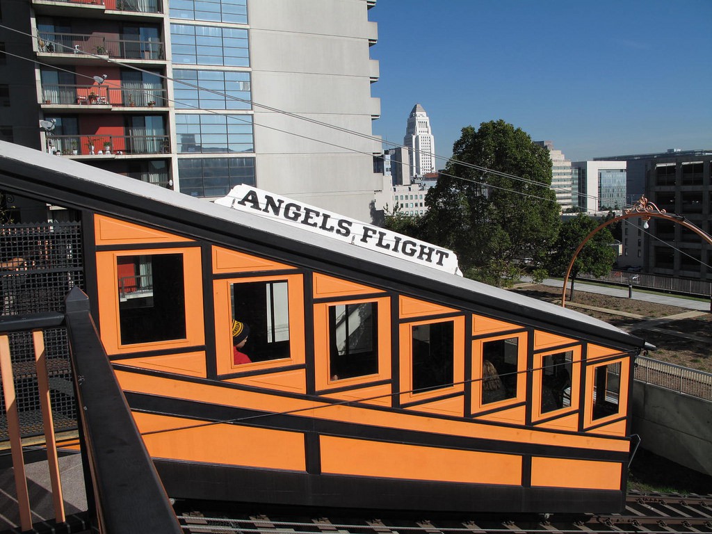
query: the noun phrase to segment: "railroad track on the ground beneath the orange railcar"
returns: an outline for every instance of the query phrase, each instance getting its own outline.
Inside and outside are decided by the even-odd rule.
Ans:
[[[207,503],[202,503],[209,506]],[[398,515],[372,517],[330,511],[295,516],[294,510],[255,514],[205,510],[178,514],[186,534],[597,534],[712,533],[712,495],[629,493],[623,513],[586,515],[474,515],[468,518],[429,514],[428,519]],[[347,515],[349,514],[349,515]]]

